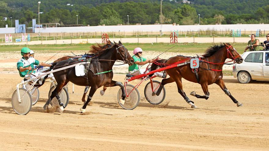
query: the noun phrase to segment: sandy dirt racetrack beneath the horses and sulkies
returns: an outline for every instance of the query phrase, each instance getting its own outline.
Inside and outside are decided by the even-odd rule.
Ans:
[[[84,87],[75,85],[72,93],[72,84],[68,85],[70,100],[64,112],[45,113],[42,107],[50,87],[50,83],[45,83],[39,88],[39,102],[22,116],[11,106],[12,93],[22,80],[16,71],[20,56],[4,54],[0,54],[4,58],[0,60],[0,150],[252,151],[269,148],[269,82],[239,84],[236,78],[224,77],[231,94],[244,106],[236,107],[219,86],[212,84],[208,100],[188,95],[197,109],[190,108],[179,95],[175,83],[165,85],[164,102],[151,105],[143,93],[148,81],[143,82],[138,88],[140,104],[134,110],[124,110],[118,105],[118,87],[108,88],[104,96],[99,94],[99,88],[93,104],[87,106],[86,115],[79,111]],[[36,58],[45,61],[47,58],[41,56],[50,55],[37,54]],[[126,70],[127,67],[123,67],[114,72]],[[113,80],[123,82],[124,78],[124,74],[115,74]],[[199,84],[182,82],[186,94],[192,91],[203,94]]]

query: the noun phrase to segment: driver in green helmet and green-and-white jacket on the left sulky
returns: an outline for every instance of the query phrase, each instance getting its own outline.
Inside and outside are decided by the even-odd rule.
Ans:
[[[51,64],[39,62],[35,58],[31,57],[30,52],[31,52],[31,50],[29,48],[23,47],[20,51],[22,58],[17,62],[17,69],[19,70],[20,77],[24,77],[27,80],[42,74],[42,73],[36,73],[35,70],[30,71],[31,74],[27,74],[29,70],[34,69],[34,65],[41,65],[41,66],[45,66],[45,67],[52,66]],[[40,78],[36,84],[41,85],[44,77]],[[38,79],[35,79],[34,81],[36,81],[36,80],[38,80]]]

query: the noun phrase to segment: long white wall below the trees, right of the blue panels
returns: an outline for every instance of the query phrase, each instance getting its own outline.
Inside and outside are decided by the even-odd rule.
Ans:
[[[133,32],[133,31],[256,31],[268,30],[269,24],[231,24],[231,25],[119,25],[119,26],[85,26],[85,27],[43,27],[35,28],[35,33],[59,33],[59,32]]]

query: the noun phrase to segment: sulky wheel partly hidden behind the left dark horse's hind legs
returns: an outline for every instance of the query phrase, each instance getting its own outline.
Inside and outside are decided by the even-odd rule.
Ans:
[[[51,87],[50,88],[50,92],[49,92],[49,97],[51,95],[51,93],[53,92],[53,90],[55,89],[55,87]],[[66,88],[63,88],[60,92],[59,92],[59,97],[61,98],[61,100],[63,101],[64,103],[64,106],[66,107],[68,105],[68,102],[69,102],[69,94],[68,94],[68,91],[66,90]],[[59,106],[59,102],[57,100],[56,97],[54,97],[51,102],[50,102],[50,105],[51,106]],[[65,108],[64,107],[64,108]]]

